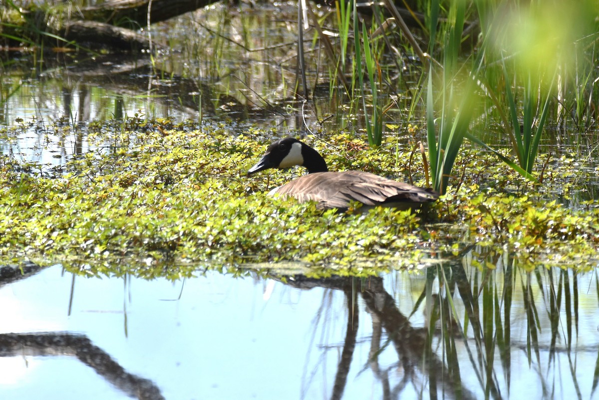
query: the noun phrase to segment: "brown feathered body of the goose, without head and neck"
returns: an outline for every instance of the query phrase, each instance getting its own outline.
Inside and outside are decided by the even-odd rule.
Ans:
[[[322,208],[347,208],[350,201],[365,205],[407,202],[415,205],[437,199],[437,193],[362,171],[317,172],[277,187],[273,193],[298,201],[316,201]]]

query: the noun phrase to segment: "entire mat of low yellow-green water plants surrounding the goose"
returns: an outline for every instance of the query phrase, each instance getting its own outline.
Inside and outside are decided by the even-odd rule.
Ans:
[[[495,252],[507,246],[527,265],[585,257],[589,265],[599,248],[594,204],[579,211],[547,204],[551,181],[539,187],[544,194],[538,198],[504,194],[525,183],[488,157],[458,159],[468,175],[457,193],[450,190],[433,207],[432,221],[389,208],[322,212],[266,195],[294,172],[246,177],[267,143],[260,132],[153,127],[98,134],[95,143],[110,147],[71,160],[55,176],[40,177],[39,166],[1,158],[0,262],[28,257],[86,274],[177,278],[198,266],[301,261],[321,272],[325,266],[329,274],[370,274],[378,267],[419,265],[431,249],[451,256],[470,244]],[[333,170],[407,180],[411,168],[421,182],[422,166],[410,164],[409,151],[389,142],[384,151],[349,135],[329,143],[311,144]],[[581,177],[579,168],[564,166],[553,175],[559,187]]]

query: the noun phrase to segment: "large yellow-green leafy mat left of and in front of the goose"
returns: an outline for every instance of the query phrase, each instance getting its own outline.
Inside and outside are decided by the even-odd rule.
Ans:
[[[17,172],[4,160],[0,251],[7,257],[93,259],[94,268],[115,257],[146,259],[149,271],[138,273],[152,275],[152,265],[161,261],[349,265],[416,242],[418,218],[409,213],[345,216],[268,198],[268,175],[246,177],[264,151],[254,138],[129,135],[126,146],[87,153],[58,177]],[[286,174],[274,175],[277,184],[285,180]],[[356,237],[357,231],[362,235]]]

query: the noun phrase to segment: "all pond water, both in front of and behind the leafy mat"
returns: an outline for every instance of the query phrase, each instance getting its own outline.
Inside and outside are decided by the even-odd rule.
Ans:
[[[189,26],[222,25],[228,10],[218,11],[157,32],[186,43]],[[249,28],[227,23],[226,36],[251,38],[254,48],[267,38],[288,45],[258,56],[229,43],[228,55],[213,59],[203,57],[204,33],[158,65],[144,56],[4,53],[0,155],[49,171],[90,150],[98,121],[114,132],[126,121],[139,128],[165,119],[273,136],[352,124],[328,92],[305,108],[289,100],[295,31],[271,10],[245,11],[234,18]],[[203,20],[208,14],[215,17]],[[397,123],[403,112],[387,116]],[[597,162],[585,152],[596,136],[564,138],[547,135],[552,162],[571,151],[592,175]],[[597,193],[595,175],[582,200]],[[198,275],[84,278],[53,265],[0,282],[0,398],[599,397],[594,273],[527,272],[509,262],[482,272],[460,261],[366,280]]]

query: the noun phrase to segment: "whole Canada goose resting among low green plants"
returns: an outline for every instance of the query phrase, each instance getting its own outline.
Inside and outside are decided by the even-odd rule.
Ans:
[[[433,202],[438,194],[430,189],[397,182],[363,171],[328,172],[325,159],[318,151],[288,137],[273,142],[247,175],[268,168],[303,165],[308,174],[271,190],[270,194],[293,196],[299,201],[313,200],[318,208],[346,210],[350,201],[364,205],[386,205],[401,210],[419,208]]]

